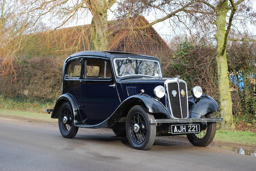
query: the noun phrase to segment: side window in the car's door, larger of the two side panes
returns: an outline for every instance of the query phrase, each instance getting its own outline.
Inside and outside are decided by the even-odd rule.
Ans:
[[[87,58],[84,67],[84,77],[87,78],[111,78],[110,62],[104,59]]]

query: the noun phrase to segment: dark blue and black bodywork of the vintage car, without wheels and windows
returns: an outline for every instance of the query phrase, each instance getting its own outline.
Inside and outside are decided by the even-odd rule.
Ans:
[[[154,115],[156,121],[152,121],[152,123],[158,123],[158,120],[161,119],[169,119],[172,122],[178,122],[178,119],[187,119],[186,123],[189,123],[188,119],[201,118],[209,112],[218,111],[218,104],[213,98],[206,95],[197,99],[188,96],[185,81],[178,78],[164,78],[162,71],[159,77],[118,77],[114,67],[116,58],[147,59],[157,61],[161,66],[160,60],[156,57],[134,53],[112,51],[75,53],[64,62],[62,95],[58,98],[51,117],[58,118],[58,110],[64,102],[69,102],[72,106],[75,126],[82,128],[112,128],[117,123],[125,122],[128,111],[135,105],[143,106],[144,110]],[[84,77],[84,72],[86,72],[84,67],[90,59],[102,59],[105,66],[106,63],[109,63],[111,71],[108,72],[112,77]],[[65,74],[67,66],[70,61],[74,60],[80,61],[81,73],[76,78],[68,78]],[[159,85],[166,87],[168,81],[177,83],[180,86],[178,88],[183,86],[186,93],[186,96],[183,96],[183,103],[181,97],[177,105],[171,107],[170,100],[168,100],[170,94],[168,95],[167,90],[163,98],[155,96],[154,88]],[[177,109],[175,109],[176,107]],[[180,110],[181,113],[184,110],[183,116],[174,114],[175,110]],[[192,120],[190,121],[192,122]]]

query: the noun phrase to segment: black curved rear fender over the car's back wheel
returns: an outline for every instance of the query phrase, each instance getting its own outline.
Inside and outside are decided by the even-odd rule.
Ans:
[[[62,94],[58,98],[58,100],[56,101],[56,104],[54,106],[54,110],[52,112],[51,118],[58,118],[60,106],[64,102],[69,102],[70,106],[72,107],[72,110],[74,113],[74,124],[75,125],[81,124],[82,120],[81,120],[81,116],[80,116],[78,102],[76,101],[74,96],[72,96],[72,94],[69,94],[69,93]]]

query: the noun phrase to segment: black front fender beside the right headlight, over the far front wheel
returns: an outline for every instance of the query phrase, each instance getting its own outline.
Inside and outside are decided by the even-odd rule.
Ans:
[[[209,112],[218,110],[217,102],[210,96],[202,95],[200,98],[188,97],[188,113],[190,118],[201,118]]]

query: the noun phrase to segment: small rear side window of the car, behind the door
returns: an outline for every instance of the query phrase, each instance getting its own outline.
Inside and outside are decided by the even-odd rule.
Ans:
[[[79,78],[81,73],[80,59],[68,63],[66,70],[66,77],[68,78]]]

